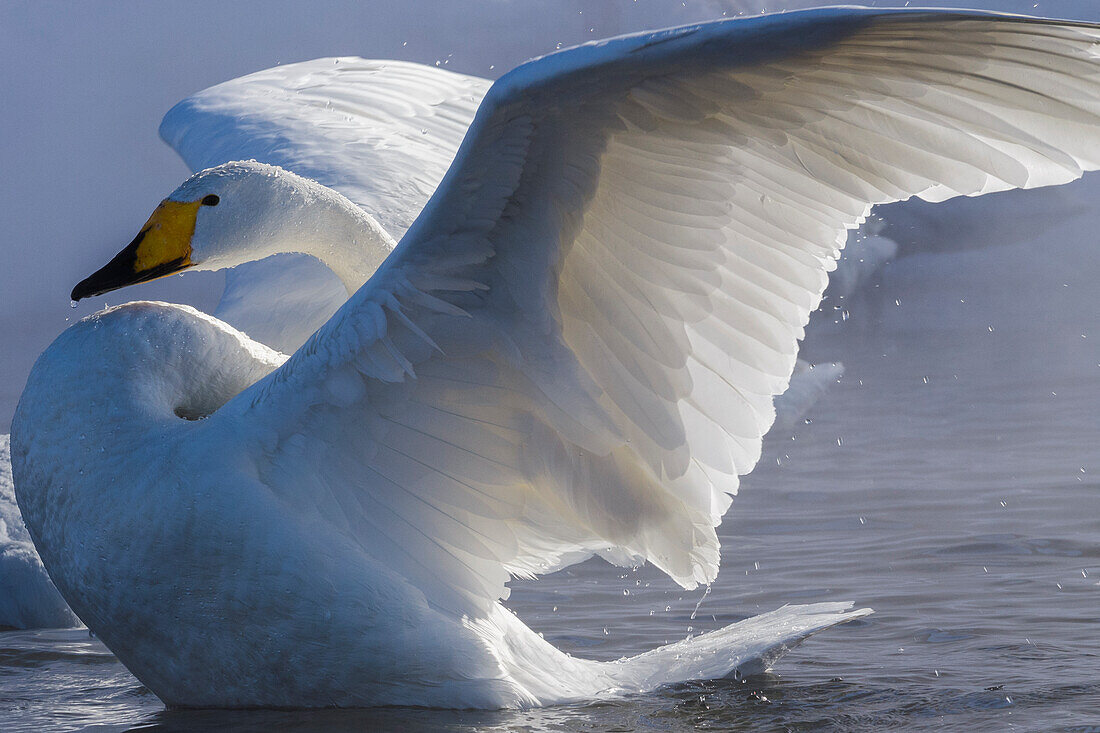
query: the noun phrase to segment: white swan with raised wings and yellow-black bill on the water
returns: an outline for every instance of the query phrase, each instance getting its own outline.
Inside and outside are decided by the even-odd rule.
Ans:
[[[43,561],[174,704],[530,705],[767,665],[862,612],[788,608],[601,664],[498,599],[593,553],[710,582],[846,229],[1100,166],[1098,41],[833,9],[553,54],[493,86],[392,253],[321,183],[205,171],[75,295],[276,251],[354,294],[285,363],[162,304],[58,337],[12,426]],[[394,68],[361,83],[399,108],[416,73]],[[323,124],[345,97],[248,101],[199,95],[176,123],[354,166]]]

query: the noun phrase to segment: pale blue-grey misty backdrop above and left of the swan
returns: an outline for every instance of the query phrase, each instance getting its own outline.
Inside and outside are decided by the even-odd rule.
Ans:
[[[409,0],[0,3],[0,433],[37,354],[66,326],[133,299],[212,310],[223,276],[189,273],[90,298],[73,285],[124,247],[188,171],[161,117],[205,87],[319,56],[396,58],[495,78],[558,47],[825,2]],[[908,6],[909,2],[867,2]],[[917,4],[916,2],[912,4]],[[1096,0],[922,0],[1100,20]]]

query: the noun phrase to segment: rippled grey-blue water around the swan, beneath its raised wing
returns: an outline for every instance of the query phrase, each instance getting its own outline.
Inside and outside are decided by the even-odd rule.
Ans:
[[[788,602],[876,609],[771,674],[522,712],[175,712],[86,631],[8,632],[0,730],[1100,731],[1100,250],[1070,225],[904,258],[843,328],[818,316],[803,353],[846,375],[769,440],[694,620],[702,591],[648,568],[515,583],[532,627],[601,659]]]

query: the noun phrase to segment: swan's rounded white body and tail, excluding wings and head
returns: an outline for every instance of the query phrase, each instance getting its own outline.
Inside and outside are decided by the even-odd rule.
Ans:
[[[38,395],[52,385],[84,385],[65,407],[84,411],[72,417],[84,427],[65,464],[34,448],[26,457],[42,471],[25,474],[28,485],[47,488],[23,502],[42,518],[43,560],[62,578],[82,579],[68,588],[73,609],[169,704],[528,707],[650,689],[680,679],[688,665],[710,677],[749,672],[867,613],[846,613],[845,603],[791,606],[735,624],[717,649],[707,648],[713,635],[666,647],[662,665],[652,653],[616,664],[574,659],[499,603],[476,620],[432,608],[389,564],[273,495],[255,478],[264,469],[242,460],[230,435],[215,439],[223,450],[186,449],[198,417],[282,361],[193,308],[132,303],[66,330],[28,383],[33,405],[48,401]],[[57,430],[35,447],[73,444],[62,422],[51,424]],[[138,440],[147,451],[134,474],[112,448]],[[153,484],[170,490],[150,492]]]

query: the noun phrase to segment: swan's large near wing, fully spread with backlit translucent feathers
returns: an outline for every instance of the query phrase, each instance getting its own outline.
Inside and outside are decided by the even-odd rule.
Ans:
[[[593,550],[708,582],[845,230],[1100,165],[1098,42],[831,9],[531,62],[382,269],[211,420],[442,606]]]

